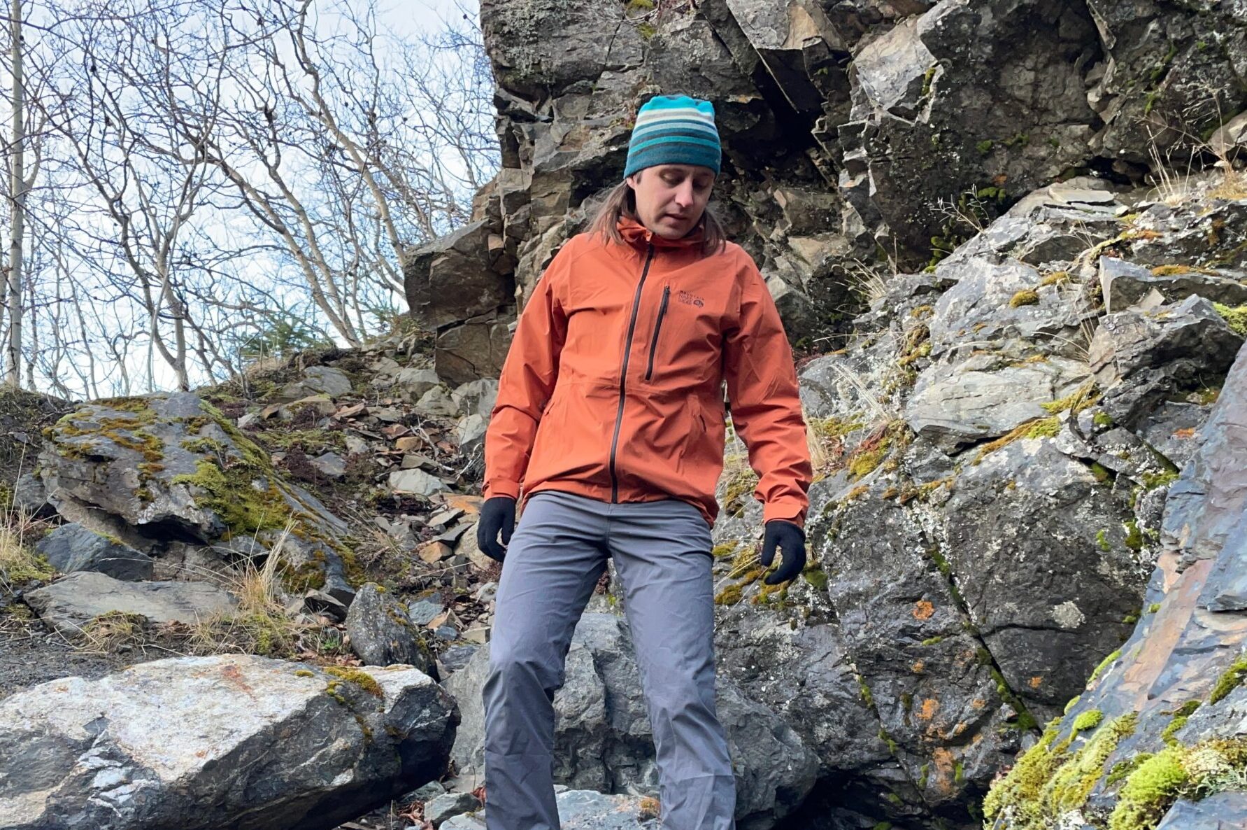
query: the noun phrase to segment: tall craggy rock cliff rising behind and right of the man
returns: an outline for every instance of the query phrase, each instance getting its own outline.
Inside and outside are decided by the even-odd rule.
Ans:
[[[821,476],[816,564],[763,589],[729,449],[721,662],[819,758],[783,826],[976,825],[1163,607],[1168,496],[1247,334],[1247,10],[486,0],[481,20],[504,170],[407,275],[439,373],[461,379],[468,352],[496,372],[515,307],[619,180],[638,104],[712,100],[715,208],[806,356]],[[488,290],[430,316],[455,281]],[[1097,785],[1100,813],[1066,795],[1028,825],[998,795],[988,819],[1107,823],[1124,780]]]

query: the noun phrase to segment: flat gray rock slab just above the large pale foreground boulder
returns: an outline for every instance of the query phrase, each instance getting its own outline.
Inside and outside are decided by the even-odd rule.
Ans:
[[[226,590],[200,582],[121,582],[80,570],[26,594],[39,617],[65,634],[76,634],[92,618],[120,612],[150,622],[195,624],[228,614],[237,605]]]

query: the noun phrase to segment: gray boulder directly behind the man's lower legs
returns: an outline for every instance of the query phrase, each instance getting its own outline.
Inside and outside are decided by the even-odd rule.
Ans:
[[[489,649],[483,647],[445,681],[464,718],[454,749],[460,774],[484,769],[480,688],[488,669]],[[737,770],[737,823],[769,828],[809,793],[817,760],[783,720],[722,676],[717,705]],[[656,790],[641,675],[621,618],[581,618],[555,713],[556,781],[595,790]]]

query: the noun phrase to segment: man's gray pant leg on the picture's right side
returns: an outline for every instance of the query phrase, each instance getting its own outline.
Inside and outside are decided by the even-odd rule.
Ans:
[[[736,776],[715,709],[710,528],[685,502],[611,508],[609,542],[653,729],[662,828],[733,830]]]

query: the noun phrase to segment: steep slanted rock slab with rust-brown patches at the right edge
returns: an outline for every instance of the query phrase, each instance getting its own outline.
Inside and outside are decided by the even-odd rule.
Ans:
[[[1160,826],[1173,830],[1236,828],[1245,815],[1241,793],[1220,793],[1226,784],[1218,770],[1241,765],[1241,759],[1227,759],[1225,746],[1241,745],[1247,711],[1247,686],[1235,668],[1247,644],[1247,617],[1237,609],[1247,572],[1241,544],[1247,530],[1247,351],[1240,352],[1200,433],[1200,451],[1171,489],[1163,547],[1141,618],[1130,639],[1109,654],[1082,695],[1051,726],[1055,738],[1050,741],[1062,746],[1075,723],[1094,719],[1101,724],[1079,736],[1059,759],[1072,758],[1089,741],[1106,741],[1095,755],[1102,764],[1087,770],[1099,774],[1085,781],[1087,809],[1097,815],[1119,809],[1124,786],[1130,786],[1129,776],[1126,784],[1116,778],[1110,783],[1112,770],[1137,766],[1145,753],[1178,748],[1187,780],[1153,805],[1153,820],[1167,810]],[[1055,771],[1055,766],[1049,769]],[[1045,804],[1020,804],[1024,796],[1014,778],[996,784],[988,799],[991,826],[1021,826],[1020,816],[1028,810],[1041,816],[1045,826],[1060,826],[1072,815],[1054,813]],[[1026,791],[1035,788],[1042,789],[1042,781],[1031,780]],[[1210,798],[1178,800],[1195,791]],[[1034,826],[1031,819],[1026,826]]]

